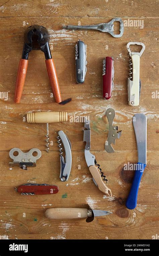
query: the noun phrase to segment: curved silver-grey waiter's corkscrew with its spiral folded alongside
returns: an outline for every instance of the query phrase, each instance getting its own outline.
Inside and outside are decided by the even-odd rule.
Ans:
[[[72,155],[71,155],[71,142],[63,131],[58,132],[57,143],[60,152],[60,162],[61,162],[61,170],[60,170],[60,180],[67,181],[69,178],[69,174],[71,171],[72,165]],[[62,143],[61,143],[62,141]],[[63,151],[61,145],[63,144],[65,150],[65,159],[62,156]]]

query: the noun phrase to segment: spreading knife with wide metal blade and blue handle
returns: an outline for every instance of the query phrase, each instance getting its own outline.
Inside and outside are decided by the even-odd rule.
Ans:
[[[146,167],[146,148],[147,148],[147,119],[144,114],[136,114],[133,117],[133,126],[137,141],[138,164],[134,174],[134,180],[126,200],[126,207],[134,209],[137,205],[138,190],[142,174]]]

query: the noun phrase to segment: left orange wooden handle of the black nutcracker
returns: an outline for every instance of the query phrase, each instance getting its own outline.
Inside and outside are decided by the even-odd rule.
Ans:
[[[16,86],[15,86],[15,95],[14,102],[19,103],[21,99],[21,94],[25,82],[25,77],[27,74],[28,68],[28,60],[21,59],[19,62],[18,73],[16,78]]]

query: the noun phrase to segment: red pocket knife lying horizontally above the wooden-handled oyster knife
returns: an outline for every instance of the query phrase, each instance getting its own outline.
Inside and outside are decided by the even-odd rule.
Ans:
[[[45,195],[56,194],[59,188],[55,185],[27,183],[15,188],[22,195]]]

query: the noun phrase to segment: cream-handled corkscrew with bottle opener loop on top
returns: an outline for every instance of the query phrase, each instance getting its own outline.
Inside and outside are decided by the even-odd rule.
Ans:
[[[131,52],[131,44],[142,45],[140,53]],[[130,106],[139,106],[141,81],[140,81],[140,57],[145,50],[145,45],[140,42],[129,42],[126,45],[127,51],[131,57],[129,60],[129,77],[127,78],[128,104]]]

